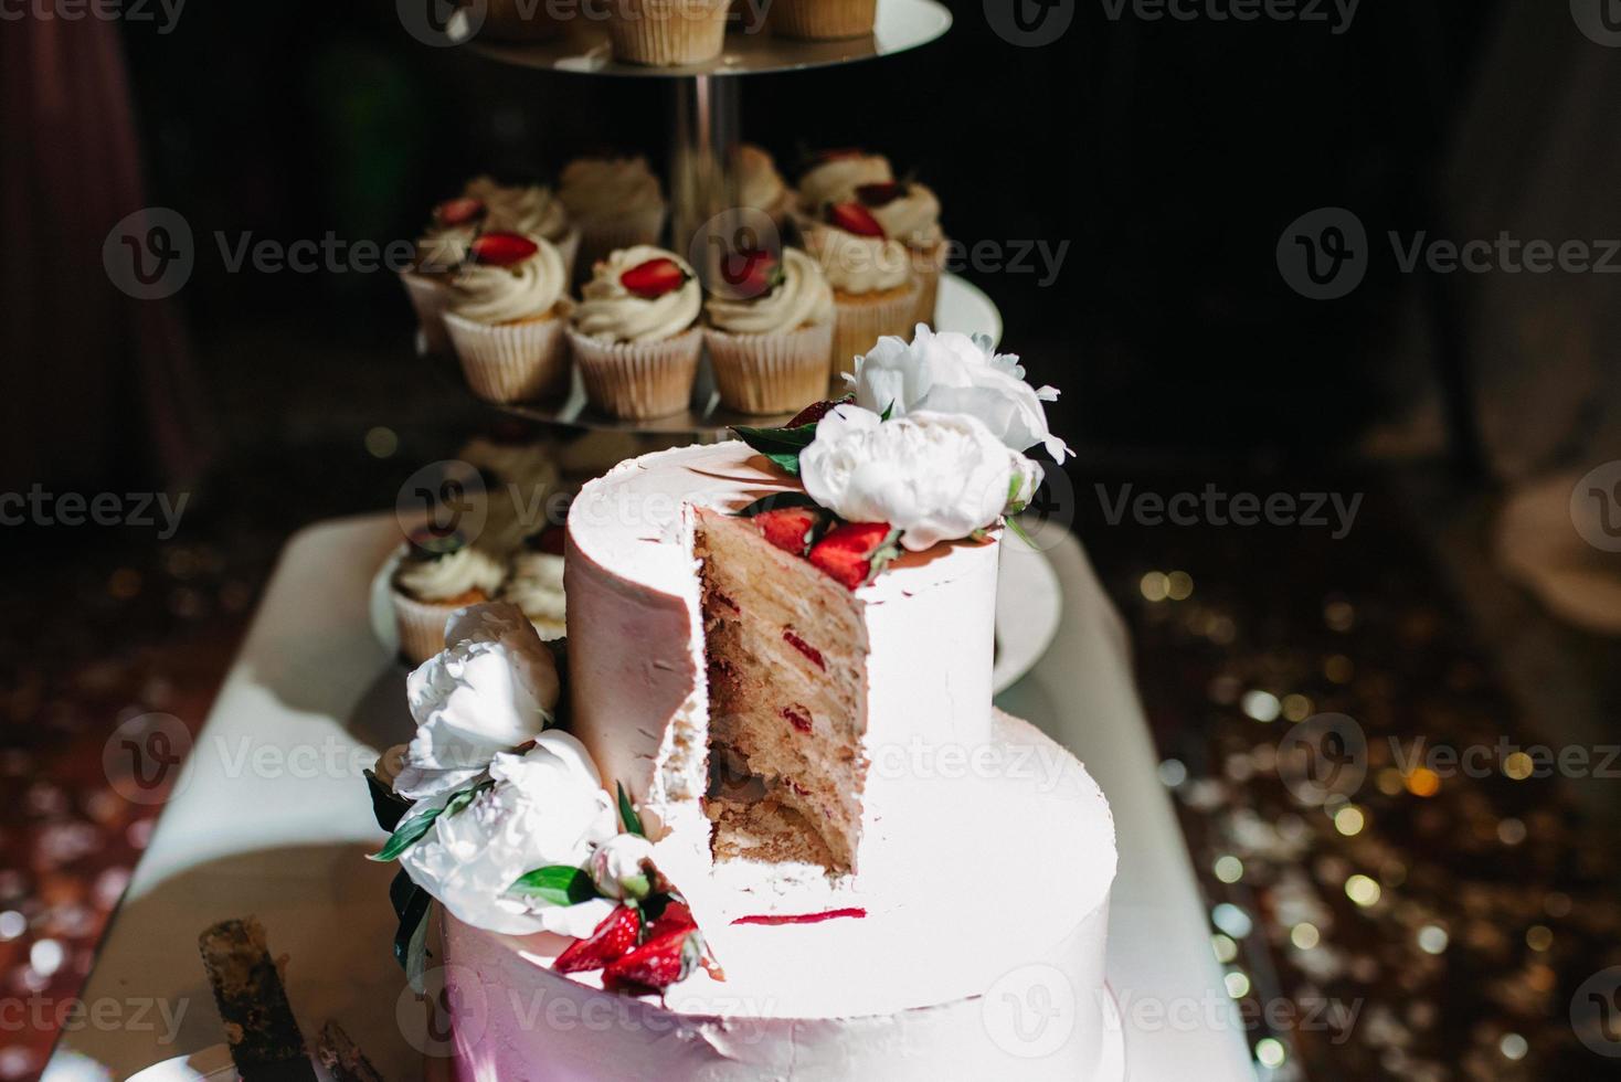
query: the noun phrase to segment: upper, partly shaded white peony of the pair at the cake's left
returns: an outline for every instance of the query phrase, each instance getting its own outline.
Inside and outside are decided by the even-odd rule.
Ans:
[[[405,680],[417,735],[394,792],[426,800],[457,789],[498,752],[535,739],[558,705],[558,667],[512,604],[475,604],[446,622],[451,643]]]

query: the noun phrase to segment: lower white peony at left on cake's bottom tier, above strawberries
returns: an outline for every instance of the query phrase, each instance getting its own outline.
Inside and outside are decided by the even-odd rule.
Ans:
[[[588,936],[613,901],[556,905],[507,892],[537,868],[585,867],[592,849],[618,831],[614,802],[585,747],[566,732],[543,732],[524,755],[496,755],[490,776],[494,786],[456,815],[434,820],[400,865],[475,928]]]

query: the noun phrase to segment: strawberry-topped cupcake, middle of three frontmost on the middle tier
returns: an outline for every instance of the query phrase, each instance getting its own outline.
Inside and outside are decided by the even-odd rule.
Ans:
[[[637,245],[592,267],[580,293],[569,343],[590,403],[622,420],[686,410],[704,350],[692,267]]]

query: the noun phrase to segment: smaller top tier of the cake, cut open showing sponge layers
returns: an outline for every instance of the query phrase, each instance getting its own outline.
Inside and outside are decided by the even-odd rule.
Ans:
[[[566,560],[575,734],[673,875],[708,876],[718,823],[715,852],[751,865],[728,886],[767,907],[814,902],[801,888],[830,889],[828,868],[870,894],[905,878],[916,779],[882,765],[989,742],[997,580],[992,539],[906,552],[846,591],[726,517],[780,491],[796,486],[738,442],[645,455],[585,486]],[[747,594],[739,619],[716,593]],[[733,669],[712,680],[712,661]]]

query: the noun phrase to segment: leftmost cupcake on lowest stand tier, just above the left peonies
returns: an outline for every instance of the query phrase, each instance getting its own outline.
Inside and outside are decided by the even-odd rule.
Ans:
[[[451,614],[490,601],[503,578],[501,562],[460,533],[413,533],[391,583],[400,653],[420,666],[444,650],[444,622]]]

